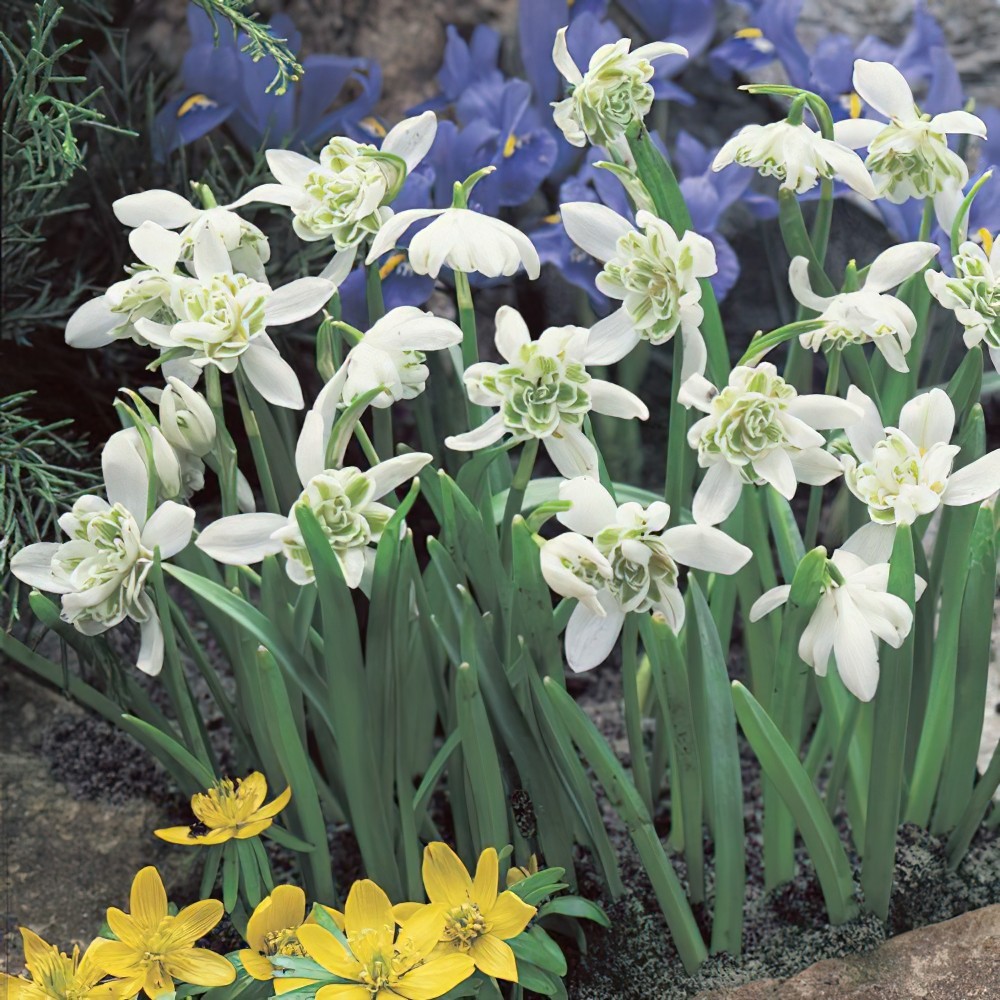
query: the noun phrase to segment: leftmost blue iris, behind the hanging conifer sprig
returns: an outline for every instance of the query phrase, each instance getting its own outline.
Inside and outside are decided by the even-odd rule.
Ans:
[[[174,150],[226,123],[236,140],[250,150],[265,141],[309,147],[334,134],[370,141],[362,120],[371,114],[382,89],[382,73],[370,59],[310,55],[302,79],[284,94],[267,93],[274,73],[265,60],[255,63],[241,52],[246,36],[234,37],[220,25],[215,43],[212,20],[200,7],[187,13],[191,46],[180,77],[183,92],[153,121],[153,154],[162,161]],[[272,28],[297,52],[301,35],[282,14]]]

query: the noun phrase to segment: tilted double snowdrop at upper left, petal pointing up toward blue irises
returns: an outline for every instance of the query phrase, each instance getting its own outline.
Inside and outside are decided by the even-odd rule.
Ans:
[[[286,205],[300,239],[329,239],[338,251],[353,250],[392,214],[389,203],[427,155],[436,131],[437,117],[425,111],[390,129],[381,149],[336,136],[318,163],[290,149],[269,149],[267,165],[278,183],[253,188],[235,204]]]

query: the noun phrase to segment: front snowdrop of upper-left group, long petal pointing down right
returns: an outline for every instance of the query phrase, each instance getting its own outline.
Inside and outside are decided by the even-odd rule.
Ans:
[[[136,330],[165,351],[185,349],[195,369],[215,365],[232,374],[241,367],[260,394],[276,406],[302,408],[294,370],[278,353],[269,327],[312,316],[335,291],[324,278],[298,278],[278,289],[233,271],[222,241],[205,231],[195,243],[194,277],[170,289],[172,316],[139,319]]]

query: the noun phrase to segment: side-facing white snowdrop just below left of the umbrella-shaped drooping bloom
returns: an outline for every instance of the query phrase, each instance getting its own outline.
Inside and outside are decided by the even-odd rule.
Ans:
[[[370,405],[392,406],[424,391],[429,374],[425,351],[462,342],[462,330],[450,320],[415,306],[391,309],[347,353],[344,363],[320,392],[315,409],[350,403],[382,387]]]

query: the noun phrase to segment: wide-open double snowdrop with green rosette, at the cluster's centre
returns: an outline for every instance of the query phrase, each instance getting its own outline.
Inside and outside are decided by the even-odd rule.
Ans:
[[[649,411],[627,389],[590,377],[588,338],[582,327],[562,326],[532,340],[520,313],[501,306],[496,347],[507,363],[479,362],[464,376],[470,401],[498,412],[444,443],[456,451],[477,451],[506,434],[514,441],[539,438],[563,476],[596,476],[597,449],[583,431],[586,415],[593,410],[645,420]]]

